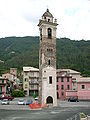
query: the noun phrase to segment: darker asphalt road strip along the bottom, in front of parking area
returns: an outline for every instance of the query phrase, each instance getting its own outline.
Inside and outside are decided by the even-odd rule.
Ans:
[[[90,114],[90,108],[55,108],[46,110],[0,110],[0,120],[67,120],[84,112]],[[74,119],[73,119],[74,120]]]

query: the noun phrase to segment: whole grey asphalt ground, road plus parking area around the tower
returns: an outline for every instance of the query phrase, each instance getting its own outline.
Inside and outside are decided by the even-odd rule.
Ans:
[[[80,120],[79,113],[90,115],[90,102],[58,101],[58,107],[42,110],[31,110],[29,106],[16,103],[0,105],[0,120],[71,120],[71,117]]]

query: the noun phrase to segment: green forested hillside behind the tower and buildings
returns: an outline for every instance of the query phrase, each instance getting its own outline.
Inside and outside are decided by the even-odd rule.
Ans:
[[[71,68],[90,76],[90,41],[57,39],[57,68]],[[17,67],[38,67],[39,37],[7,37],[0,39],[0,74]]]

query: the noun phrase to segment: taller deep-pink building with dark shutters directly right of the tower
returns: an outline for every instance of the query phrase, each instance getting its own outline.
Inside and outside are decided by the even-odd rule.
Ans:
[[[72,76],[57,72],[57,98],[65,100],[66,90],[72,90]]]

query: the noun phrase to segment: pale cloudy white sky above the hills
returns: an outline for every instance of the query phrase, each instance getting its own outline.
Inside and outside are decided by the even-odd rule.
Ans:
[[[0,38],[39,36],[46,9],[57,19],[57,38],[90,40],[90,0],[0,0]]]

